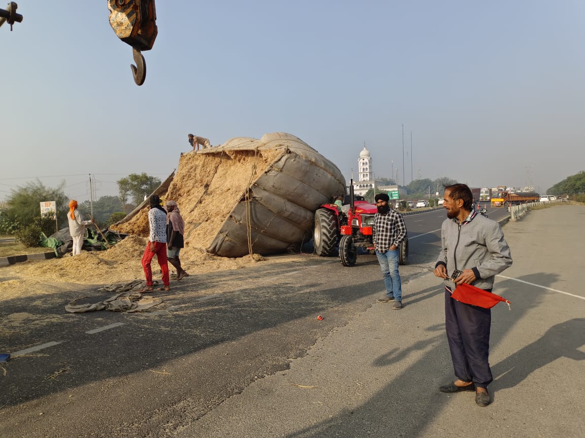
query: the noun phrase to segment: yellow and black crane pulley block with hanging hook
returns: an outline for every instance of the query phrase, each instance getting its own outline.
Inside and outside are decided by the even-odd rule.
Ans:
[[[146,63],[142,50],[150,50],[158,33],[154,0],[108,0],[109,22],[119,39],[132,46],[136,65],[130,65],[136,85],[144,84]]]

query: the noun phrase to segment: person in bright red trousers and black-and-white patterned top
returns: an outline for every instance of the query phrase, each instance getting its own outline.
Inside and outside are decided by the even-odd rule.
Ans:
[[[140,292],[149,292],[154,289],[152,281],[152,268],[150,262],[156,254],[160,270],[163,273],[163,284],[159,290],[170,290],[168,283],[168,263],[167,263],[167,212],[160,205],[160,197],[153,194],[149,198],[148,222],[150,227],[149,242],[146,244],[142,256],[142,268],[146,276],[146,286]]]

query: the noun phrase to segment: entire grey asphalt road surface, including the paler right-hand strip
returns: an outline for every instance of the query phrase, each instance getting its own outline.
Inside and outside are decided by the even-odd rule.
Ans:
[[[574,276],[583,235],[569,234],[580,230],[577,225],[559,227],[555,241],[535,240],[526,230],[567,221],[566,211],[582,223],[584,210],[538,210],[504,228],[515,265],[504,272],[514,279],[501,279],[501,294],[512,300],[514,314],[496,308],[502,318],[494,318],[492,362],[505,384],[494,383],[495,402],[479,413],[473,399],[445,399],[434,390],[451,378],[441,290],[429,274],[445,218],[439,210],[405,217],[410,256],[401,266],[405,308],[399,312],[373,304],[383,281],[375,256],[366,253],[350,268],[336,258],[301,254],[192,275],[161,294],[166,310],[144,314],[64,312],[73,298],[104,299],[98,286],[49,284],[50,296],[30,291],[26,300],[4,301],[2,318],[37,318],[1,332],[0,352],[22,356],[2,364],[0,432],[57,438],[463,436],[477,431],[456,415],[460,409],[488,422],[494,409],[500,415],[510,406],[514,413],[501,415],[519,421],[526,413],[529,426],[538,427],[515,423],[502,426],[504,434],[474,434],[544,437],[554,429],[583,436],[575,433],[583,432],[582,415],[576,418],[584,407],[577,390],[584,383],[578,362],[585,355],[584,300],[550,291],[583,295]],[[505,211],[488,214],[497,219]],[[553,244],[560,246],[550,249]],[[562,263],[555,251],[566,254]],[[541,286],[550,290],[542,293]],[[531,388],[533,378],[539,398],[525,388],[519,401],[508,397],[507,390],[514,395],[517,387]],[[550,379],[554,388],[544,383]],[[515,405],[500,402],[508,398]]]

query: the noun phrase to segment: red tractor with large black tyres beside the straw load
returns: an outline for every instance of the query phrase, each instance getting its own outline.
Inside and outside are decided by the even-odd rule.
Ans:
[[[375,254],[372,241],[374,215],[378,208],[362,196],[353,196],[353,183],[349,187],[349,209],[339,211],[335,204],[323,204],[315,211],[313,244],[319,256],[330,256],[339,241],[339,259],[343,266],[356,264],[357,248],[366,248]],[[408,263],[408,236],[398,246],[398,263]]]

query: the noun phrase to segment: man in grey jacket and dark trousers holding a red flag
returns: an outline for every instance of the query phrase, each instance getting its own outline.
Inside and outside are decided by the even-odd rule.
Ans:
[[[487,406],[491,402],[487,385],[493,380],[488,358],[491,310],[460,303],[451,293],[462,283],[491,292],[495,274],[511,266],[512,257],[500,224],[473,210],[469,187],[446,186],[443,199],[447,219],[434,273],[445,279],[445,331],[457,380],[439,389],[476,391],[476,404]]]

